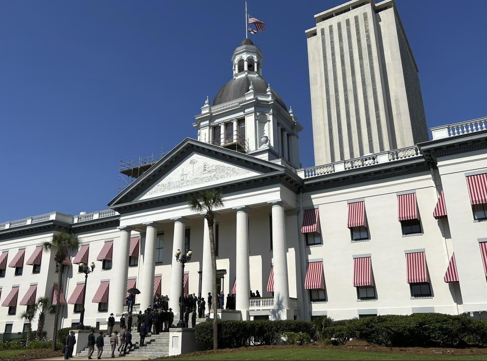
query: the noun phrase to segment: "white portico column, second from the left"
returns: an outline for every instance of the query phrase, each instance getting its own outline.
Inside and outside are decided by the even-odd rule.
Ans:
[[[152,306],[154,301],[154,271],[157,224],[144,223],[146,226],[146,244],[144,246],[144,264],[142,266],[142,282],[140,282],[141,310]]]

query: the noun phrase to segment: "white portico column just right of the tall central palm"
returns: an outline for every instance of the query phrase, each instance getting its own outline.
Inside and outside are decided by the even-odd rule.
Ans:
[[[244,311],[250,306],[249,266],[249,207],[233,207],[237,211],[236,221],[236,300],[235,309]],[[243,316],[243,313],[242,313]],[[245,319],[245,318],[244,318]]]

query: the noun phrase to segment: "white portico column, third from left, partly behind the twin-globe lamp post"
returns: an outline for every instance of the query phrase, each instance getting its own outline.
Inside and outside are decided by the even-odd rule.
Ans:
[[[181,287],[183,284],[183,272],[181,269],[181,263],[176,261],[174,254],[178,249],[184,254],[184,232],[186,226],[186,218],[178,217],[171,218],[174,221],[174,237],[172,240],[172,253],[171,253],[171,293],[169,294],[169,307],[172,308],[172,312],[179,314],[179,297],[181,296]],[[175,318],[176,319],[176,318]]]

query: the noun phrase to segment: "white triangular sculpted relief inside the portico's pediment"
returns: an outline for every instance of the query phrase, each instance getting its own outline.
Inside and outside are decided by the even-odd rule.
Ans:
[[[262,173],[192,153],[136,200],[237,181],[260,174]]]

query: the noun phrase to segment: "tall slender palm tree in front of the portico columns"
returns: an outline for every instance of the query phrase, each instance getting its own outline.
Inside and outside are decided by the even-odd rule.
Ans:
[[[208,233],[210,234],[210,253],[212,256],[212,276],[213,276],[213,349],[218,349],[218,326],[217,326],[217,261],[215,259],[215,237],[213,234],[213,224],[215,223],[214,209],[223,207],[223,195],[215,189],[207,189],[198,193],[198,196],[189,198],[189,207],[196,212],[205,212],[204,218],[208,223]]]

